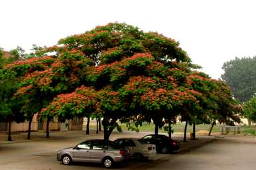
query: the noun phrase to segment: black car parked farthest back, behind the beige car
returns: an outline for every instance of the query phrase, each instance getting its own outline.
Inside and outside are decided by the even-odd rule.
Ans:
[[[155,134],[149,134],[141,138],[141,141],[148,144],[155,144],[157,153],[170,153],[171,151],[180,149],[180,142],[161,134],[157,136]]]

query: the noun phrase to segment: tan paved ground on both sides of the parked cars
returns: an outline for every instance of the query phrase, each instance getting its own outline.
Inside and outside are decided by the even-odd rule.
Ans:
[[[141,134],[141,136],[143,135]],[[85,140],[85,137],[1,144],[0,169],[103,169],[99,164],[76,163],[66,166],[56,161],[58,149],[72,146],[82,140]],[[146,162],[131,161],[129,165],[121,165],[115,169],[256,169],[255,144],[255,138],[214,138],[200,146],[180,151],[180,153],[160,155],[157,159]]]

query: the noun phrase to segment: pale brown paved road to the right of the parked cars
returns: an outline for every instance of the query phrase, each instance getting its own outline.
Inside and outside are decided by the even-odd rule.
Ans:
[[[220,138],[148,169],[255,170],[255,160],[254,137]]]

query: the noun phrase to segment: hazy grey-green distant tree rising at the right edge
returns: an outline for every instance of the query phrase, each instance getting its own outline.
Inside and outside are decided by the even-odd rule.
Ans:
[[[253,58],[235,58],[222,66],[222,79],[231,87],[233,95],[246,102],[256,93],[256,56]]]

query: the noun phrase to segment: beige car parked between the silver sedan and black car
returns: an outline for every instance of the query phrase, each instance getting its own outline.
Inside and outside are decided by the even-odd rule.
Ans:
[[[114,142],[122,148],[128,148],[134,159],[147,159],[157,153],[154,144],[147,144],[137,138],[118,138]]]

